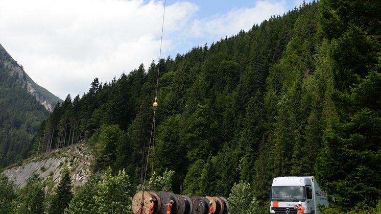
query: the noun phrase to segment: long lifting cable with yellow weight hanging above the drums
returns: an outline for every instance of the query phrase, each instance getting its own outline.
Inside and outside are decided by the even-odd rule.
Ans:
[[[159,85],[161,45],[162,45],[162,41],[163,41],[163,30],[164,30],[164,15],[165,15],[165,0],[164,0],[163,18],[162,18],[162,23],[161,23],[160,52],[159,52],[159,62],[158,62],[158,68],[157,68],[155,102],[153,103],[154,112],[153,112],[153,120],[152,120],[151,136],[150,136],[150,144],[149,144],[149,147],[148,147],[146,171],[145,171],[145,174],[144,174],[142,191],[144,191],[144,187],[145,187],[145,184],[146,184],[146,177],[147,177],[147,171],[148,171],[148,161],[149,161],[149,156],[150,156],[151,142],[152,142],[152,140],[153,140],[153,142],[155,142],[155,117],[156,117],[156,108],[158,107],[158,104],[157,104],[157,91],[158,91],[158,85]],[[153,157],[152,157],[152,171],[153,171]],[[142,194],[142,196],[141,196],[142,199],[143,199],[143,196],[144,196],[144,194]],[[143,200],[141,200],[141,201],[143,201]]]

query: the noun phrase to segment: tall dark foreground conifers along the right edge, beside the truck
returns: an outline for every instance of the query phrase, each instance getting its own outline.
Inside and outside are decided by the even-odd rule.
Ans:
[[[372,1],[322,1],[320,17],[330,41],[331,98],[337,115],[324,132],[317,179],[337,199],[336,208],[359,213],[374,208],[381,196],[381,45],[374,36],[378,18],[372,16],[380,12],[378,6]]]

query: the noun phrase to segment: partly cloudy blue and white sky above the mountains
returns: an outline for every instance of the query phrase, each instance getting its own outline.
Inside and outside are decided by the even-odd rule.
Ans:
[[[147,69],[159,57],[247,32],[302,2],[0,0],[0,44],[34,82],[64,100],[87,93],[94,78],[110,82],[141,63]]]

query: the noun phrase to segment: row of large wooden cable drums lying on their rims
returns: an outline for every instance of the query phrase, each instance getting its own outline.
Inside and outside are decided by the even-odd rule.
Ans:
[[[155,192],[155,191],[139,191],[132,198],[132,211],[135,214],[149,213],[152,198],[154,203],[154,214],[165,214],[168,206],[165,204],[172,204],[172,214],[208,214],[210,204],[213,205],[213,213],[227,214],[229,211],[229,203],[224,197],[192,197],[184,195],[177,195],[171,192]]]

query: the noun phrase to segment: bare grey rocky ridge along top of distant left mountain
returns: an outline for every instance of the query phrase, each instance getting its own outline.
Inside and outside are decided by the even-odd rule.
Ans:
[[[28,90],[28,92],[34,96],[46,110],[52,112],[54,106],[59,101],[62,102],[57,96],[33,82],[33,80],[23,70],[22,65],[19,65],[17,61],[13,60],[1,44],[0,63],[3,67],[7,68],[9,75],[16,76],[18,78],[22,87]]]

